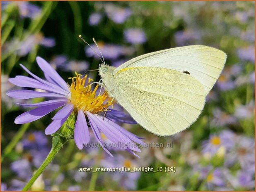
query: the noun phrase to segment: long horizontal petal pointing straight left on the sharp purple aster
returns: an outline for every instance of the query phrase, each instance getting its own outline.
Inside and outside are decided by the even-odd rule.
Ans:
[[[15,98],[15,99],[31,99],[31,98],[37,98],[37,97],[64,97],[63,95],[59,95],[56,93],[51,92],[39,92],[39,91],[32,91],[32,90],[12,90],[8,91],[6,93],[9,97]]]

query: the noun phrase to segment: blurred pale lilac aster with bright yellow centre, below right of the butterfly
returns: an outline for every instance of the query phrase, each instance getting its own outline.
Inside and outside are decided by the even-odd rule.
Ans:
[[[213,156],[222,146],[230,150],[234,146],[234,138],[234,133],[229,130],[223,130],[220,135],[210,135],[210,139],[203,142],[203,154]]]

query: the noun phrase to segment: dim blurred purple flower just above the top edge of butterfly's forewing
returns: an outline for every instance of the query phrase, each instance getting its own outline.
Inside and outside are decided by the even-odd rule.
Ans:
[[[191,45],[200,43],[201,35],[199,31],[192,31],[186,29],[184,31],[177,31],[174,34],[175,42],[178,46]]]

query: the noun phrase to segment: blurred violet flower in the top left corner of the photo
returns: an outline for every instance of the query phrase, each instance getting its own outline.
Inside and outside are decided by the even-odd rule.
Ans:
[[[16,5],[19,8],[21,18],[28,17],[34,19],[41,14],[41,8],[27,1],[1,1],[1,9],[6,9],[10,4]]]

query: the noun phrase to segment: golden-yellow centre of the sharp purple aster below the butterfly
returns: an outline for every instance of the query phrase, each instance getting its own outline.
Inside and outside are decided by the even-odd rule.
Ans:
[[[92,114],[107,111],[109,106],[112,105],[108,101],[109,95],[107,92],[104,91],[102,94],[97,94],[99,84],[92,89],[93,79],[87,78],[87,75],[82,77],[81,74],[75,74],[75,77],[70,78],[72,79],[72,84],[69,85],[70,103],[74,105],[74,109],[88,111]]]

